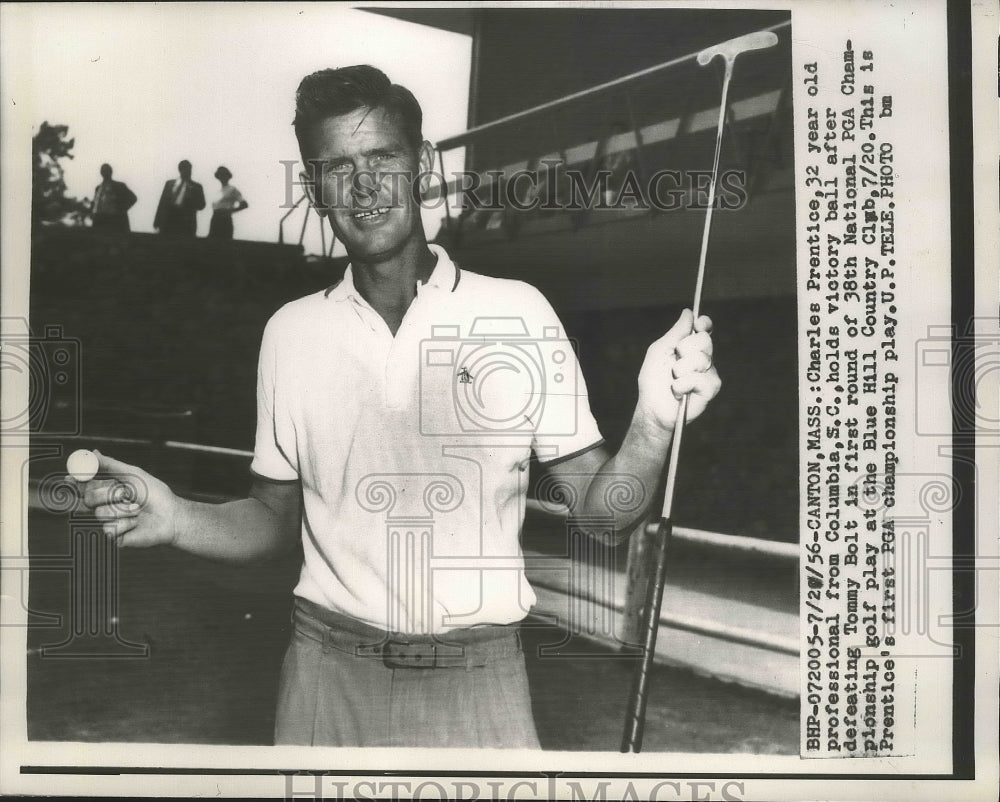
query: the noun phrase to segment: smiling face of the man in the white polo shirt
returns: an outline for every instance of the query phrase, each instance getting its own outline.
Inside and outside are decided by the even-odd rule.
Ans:
[[[399,116],[357,109],[309,131],[303,153],[315,176],[313,203],[330,218],[353,259],[384,261],[422,237],[413,181],[432,165],[430,146],[414,147]]]

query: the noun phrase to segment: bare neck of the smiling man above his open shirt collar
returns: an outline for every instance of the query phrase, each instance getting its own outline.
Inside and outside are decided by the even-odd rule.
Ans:
[[[436,264],[427,243],[415,241],[383,262],[352,259],[351,270],[358,292],[395,334],[417,295],[417,284],[426,283]]]

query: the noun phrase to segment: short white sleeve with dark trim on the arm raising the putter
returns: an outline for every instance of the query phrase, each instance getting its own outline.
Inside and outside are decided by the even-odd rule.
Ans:
[[[532,448],[539,462],[562,462],[596,448],[604,438],[590,409],[574,343],[567,339],[545,296],[530,287],[527,300],[526,310],[532,317],[528,329],[538,347],[543,377],[541,414]]]

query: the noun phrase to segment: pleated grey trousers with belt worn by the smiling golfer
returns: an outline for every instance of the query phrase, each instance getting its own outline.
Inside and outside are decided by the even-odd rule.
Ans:
[[[303,599],[293,622],[275,744],[540,748],[516,625],[454,630],[435,643]],[[410,645],[397,647],[403,639]]]

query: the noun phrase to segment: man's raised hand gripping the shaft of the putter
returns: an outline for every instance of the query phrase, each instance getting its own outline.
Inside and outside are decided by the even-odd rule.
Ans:
[[[673,431],[680,399],[688,396],[687,420],[697,418],[722,387],[712,364],[712,321],[701,315],[692,325],[685,309],[673,327],[646,351],[639,371],[638,412],[649,423]]]

